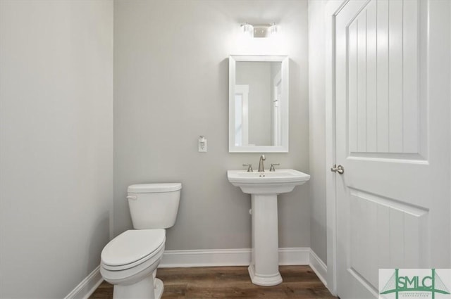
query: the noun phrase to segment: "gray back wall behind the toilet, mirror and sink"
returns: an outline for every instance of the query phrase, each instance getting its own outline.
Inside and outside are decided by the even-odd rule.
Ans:
[[[242,40],[245,21],[278,39]],[[309,172],[307,1],[115,1],[114,30],[114,234],[132,227],[128,185],[182,182],[166,249],[250,248],[250,198],[226,170],[259,153],[228,153],[228,56],[290,56],[290,153],[266,166]],[[308,184],[280,196],[280,247],[310,246],[309,214]]]

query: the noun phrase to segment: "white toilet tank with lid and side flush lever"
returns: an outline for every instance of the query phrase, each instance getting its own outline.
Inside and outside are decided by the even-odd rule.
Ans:
[[[128,206],[135,229],[173,227],[180,202],[180,183],[128,186]]]

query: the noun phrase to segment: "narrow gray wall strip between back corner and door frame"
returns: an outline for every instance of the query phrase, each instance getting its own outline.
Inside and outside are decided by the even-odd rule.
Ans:
[[[323,0],[309,1],[309,153],[311,249],[326,263],[325,4]]]

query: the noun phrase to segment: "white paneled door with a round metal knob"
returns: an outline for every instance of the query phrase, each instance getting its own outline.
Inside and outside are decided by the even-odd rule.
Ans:
[[[337,291],[450,268],[450,2],[349,1],[335,18]]]

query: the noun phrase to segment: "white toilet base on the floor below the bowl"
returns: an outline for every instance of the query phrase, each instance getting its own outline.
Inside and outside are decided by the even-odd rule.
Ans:
[[[151,274],[136,284],[124,286],[115,284],[113,288],[113,299],[161,299],[163,294],[163,281],[154,279]]]

